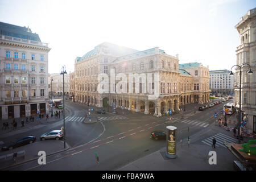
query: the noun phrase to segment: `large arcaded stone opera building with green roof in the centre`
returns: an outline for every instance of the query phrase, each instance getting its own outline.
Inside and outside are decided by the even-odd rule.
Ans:
[[[127,76],[126,93],[98,92],[98,75],[106,73],[110,80],[110,70],[115,76],[118,73]],[[129,80],[129,73],[138,73],[138,77]],[[147,80],[139,76],[143,73],[147,75]],[[168,113],[169,109],[178,111],[180,105],[209,101],[208,67],[196,62],[179,64],[178,55],[168,55],[158,47],[138,51],[102,43],[75,59],[75,71],[70,79],[70,92],[75,101],[89,102],[98,107],[113,106],[115,103],[117,107],[123,106],[127,110],[160,116]],[[158,84],[155,84],[156,81]],[[118,82],[118,79],[115,79],[114,85],[109,82],[109,90],[115,90]]]

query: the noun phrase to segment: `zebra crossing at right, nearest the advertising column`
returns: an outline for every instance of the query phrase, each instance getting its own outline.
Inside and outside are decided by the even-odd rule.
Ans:
[[[236,139],[222,133],[217,133],[215,135],[212,135],[211,137],[208,137],[202,140],[201,142],[203,142],[204,144],[207,144],[208,146],[212,146],[213,137],[216,139],[216,144],[215,144],[216,147],[225,147],[224,146],[225,141],[227,143],[237,143]]]

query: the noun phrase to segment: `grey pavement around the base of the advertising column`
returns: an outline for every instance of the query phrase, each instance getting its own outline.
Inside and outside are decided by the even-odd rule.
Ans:
[[[177,144],[177,158],[165,156],[166,147],[136,160],[117,171],[233,171],[233,160],[236,160],[226,148],[218,148],[217,165],[210,165],[208,155],[214,148],[203,144],[191,144],[181,147]],[[225,155],[218,155],[219,153]]]

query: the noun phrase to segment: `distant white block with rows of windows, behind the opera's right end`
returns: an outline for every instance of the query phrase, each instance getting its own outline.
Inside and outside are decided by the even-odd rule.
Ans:
[[[234,75],[229,74],[227,69],[210,71],[210,90],[224,95],[233,94]]]

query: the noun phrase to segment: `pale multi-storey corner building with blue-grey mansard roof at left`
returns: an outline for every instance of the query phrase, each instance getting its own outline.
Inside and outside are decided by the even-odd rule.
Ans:
[[[0,22],[0,120],[48,113],[48,52],[28,27]]]

